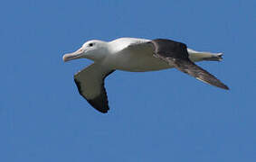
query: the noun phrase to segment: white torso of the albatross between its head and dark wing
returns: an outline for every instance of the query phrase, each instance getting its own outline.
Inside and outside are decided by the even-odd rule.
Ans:
[[[150,40],[121,38],[110,41],[110,49],[115,49],[115,47],[119,46],[120,48],[109,52],[111,54],[105,58],[105,62],[103,63],[113,69],[131,72],[145,72],[170,68],[171,66],[166,64],[166,62],[159,61],[160,58],[152,57],[153,46],[147,42],[150,42]]]

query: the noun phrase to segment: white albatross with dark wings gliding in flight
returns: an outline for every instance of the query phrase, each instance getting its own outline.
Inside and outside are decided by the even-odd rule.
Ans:
[[[89,58],[94,63],[74,75],[79,93],[96,110],[109,111],[104,79],[115,70],[146,72],[175,67],[196,79],[228,90],[215,76],[194,64],[197,61],[221,61],[222,53],[188,49],[185,43],[166,39],[119,38],[117,40],[89,40],[81,49],[63,55],[64,62]]]

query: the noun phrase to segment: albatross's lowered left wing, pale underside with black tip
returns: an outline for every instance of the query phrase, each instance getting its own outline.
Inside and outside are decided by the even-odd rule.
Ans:
[[[103,113],[109,111],[109,101],[104,87],[104,79],[114,71],[93,63],[74,76],[79,93],[92,107]]]

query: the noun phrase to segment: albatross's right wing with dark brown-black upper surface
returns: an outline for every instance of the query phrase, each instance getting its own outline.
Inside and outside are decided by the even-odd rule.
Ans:
[[[224,85],[219,79],[202,67],[195,65],[194,62],[188,58],[186,45],[184,43],[164,39],[152,40],[152,43],[155,46],[156,57],[164,59],[168,64],[190,76],[194,76],[204,83],[223,89],[229,89],[227,85]]]

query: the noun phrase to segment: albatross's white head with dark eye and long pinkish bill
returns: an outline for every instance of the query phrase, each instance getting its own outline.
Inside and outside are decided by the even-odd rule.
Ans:
[[[63,56],[63,61],[69,61],[71,59],[89,58],[93,61],[100,60],[106,56],[108,52],[108,44],[102,40],[89,40],[85,42],[81,49],[75,52],[67,53]]]

